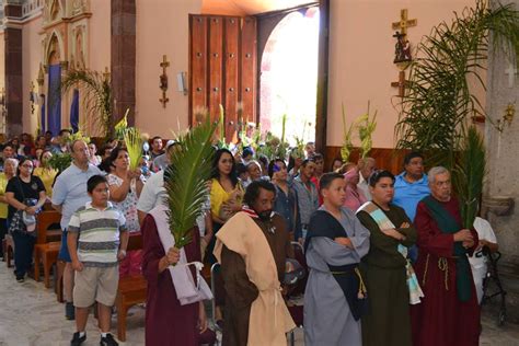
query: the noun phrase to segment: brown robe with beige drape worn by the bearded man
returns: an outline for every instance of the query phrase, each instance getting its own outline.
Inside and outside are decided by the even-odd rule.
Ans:
[[[285,220],[238,212],[217,238],[226,289],[223,345],[286,345],[285,333],[295,324],[280,293],[285,262],[293,257]]]

